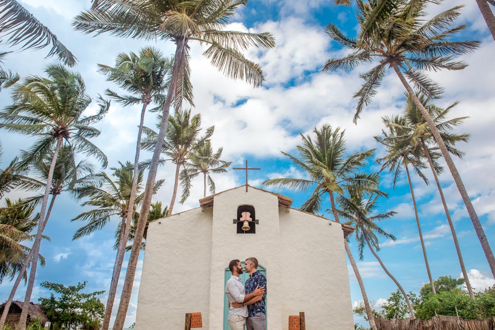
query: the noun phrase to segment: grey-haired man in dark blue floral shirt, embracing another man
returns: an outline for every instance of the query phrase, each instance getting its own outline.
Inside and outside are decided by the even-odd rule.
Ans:
[[[248,305],[247,330],[266,330],[267,278],[258,272],[258,259],[254,257],[246,259],[244,268],[250,274],[250,278],[246,281],[246,294],[254,292],[257,287],[265,288],[263,296],[256,296],[244,303]]]

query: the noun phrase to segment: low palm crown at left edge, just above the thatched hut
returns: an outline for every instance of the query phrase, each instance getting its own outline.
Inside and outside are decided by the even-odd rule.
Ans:
[[[22,244],[23,241],[32,241],[30,233],[38,225],[40,214],[33,214],[34,204],[18,199],[5,199],[5,207],[0,208],[0,283],[5,277],[13,280],[21,270],[24,259],[31,249]],[[40,256],[42,265],[45,259]],[[26,272],[23,277],[27,278]]]

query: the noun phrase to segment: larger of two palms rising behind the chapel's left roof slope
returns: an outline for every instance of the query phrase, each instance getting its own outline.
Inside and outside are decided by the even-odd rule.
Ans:
[[[186,170],[185,164],[193,150],[201,146],[206,140],[210,139],[215,129],[214,126],[209,127],[203,137],[199,137],[201,133],[201,114],[196,114],[191,118],[191,110],[180,109],[169,118],[167,134],[162,145],[162,153],[167,157],[162,159],[164,163],[167,160],[175,164],[175,180],[173,184],[172,199],[168,206],[168,214],[172,214],[175,198],[177,197],[177,189],[179,186],[179,174],[181,167]],[[146,150],[154,150],[158,144],[158,134],[145,128],[146,137],[143,139],[141,146]],[[144,164],[149,165],[150,161]],[[181,203],[185,201],[187,196],[182,195]]]

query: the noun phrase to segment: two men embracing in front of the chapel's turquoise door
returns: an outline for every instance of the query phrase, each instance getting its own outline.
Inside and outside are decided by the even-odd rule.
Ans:
[[[232,272],[225,284],[230,329],[244,330],[244,326],[247,326],[247,330],[266,330],[267,279],[257,270],[258,260],[253,257],[246,259],[244,268],[250,275],[246,287],[239,278],[243,273],[241,262],[237,259],[232,260],[228,268]]]

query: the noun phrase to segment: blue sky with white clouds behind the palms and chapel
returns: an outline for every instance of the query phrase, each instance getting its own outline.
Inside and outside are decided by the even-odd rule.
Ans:
[[[78,58],[74,68],[81,73],[92,97],[103,94],[107,88],[119,91],[112,83],[97,72],[97,64],[112,65],[119,52],[138,52],[148,45],[158,47],[165,55],[173,53],[169,42],[146,42],[143,40],[118,39],[108,35],[92,37],[76,32],[71,27],[72,18],[90,7],[89,0],[20,0],[40,21],[47,25]],[[429,15],[439,13],[454,5],[465,4],[458,22],[467,24],[467,29],[459,36],[464,40],[480,40],[481,47],[473,53],[460,56],[469,66],[462,71],[441,71],[431,77],[444,87],[444,97],[437,101],[447,106],[454,101],[459,104],[451,110],[451,118],[469,116],[457,132],[471,135],[468,143],[458,147],[466,152],[462,159],[454,159],[473,205],[480,217],[490,243],[495,244],[495,67],[490,65],[495,53],[495,43],[476,6],[474,0],[449,0],[441,5],[432,5]],[[210,65],[199,45],[191,45],[191,79],[194,87],[194,114],[201,113],[204,128],[215,125],[212,138],[214,148],[223,147],[223,159],[232,162],[232,167],[242,167],[249,160],[250,167],[260,167],[260,171],[249,174],[249,184],[266,189],[262,182],[278,177],[304,178],[280,151],[296,153],[299,136],[311,134],[315,127],[329,123],[333,127],[345,129],[348,152],[376,148],[376,157],[383,157],[385,150],[373,136],[381,133],[381,117],[398,114],[404,107],[404,89],[398,78],[388,72],[379,88],[373,103],[362,113],[357,125],[352,123],[356,100],[352,95],[360,88],[359,73],[366,70],[361,66],[351,72],[323,73],[326,60],[346,53],[324,33],[328,23],[333,23],[347,33],[356,35],[357,27],[354,8],[337,7],[329,0],[250,0],[241,8],[228,25],[230,30],[250,32],[271,32],[276,38],[276,47],[269,50],[250,49],[247,57],[260,63],[266,81],[262,88],[233,81]],[[192,43],[191,43],[192,44]],[[15,48],[8,50],[16,50]],[[4,68],[19,73],[43,74],[44,67],[53,63],[46,59],[47,48],[39,51],[13,52],[7,55]],[[0,106],[8,105],[8,90],[0,93]],[[90,105],[88,114],[96,111],[96,103]],[[108,156],[109,167],[117,166],[118,161],[134,159],[135,139],[139,123],[140,107],[123,108],[112,103],[107,116],[97,124],[102,134],[93,140]],[[145,125],[155,127],[157,115],[148,113]],[[0,131],[0,141],[4,149],[1,166],[5,165],[19,150],[28,148],[33,139]],[[142,159],[150,158],[144,152]],[[95,168],[98,169],[96,160]],[[370,163],[367,170],[378,171],[376,163]],[[99,169],[102,170],[102,169]],[[166,164],[158,172],[158,178],[165,179],[165,185],[158,191],[155,200],[168,204],[173,187],[173,165]],[[428,170],[425,174],[433,180]],[[244,184],[242,171],[229,170],[225,174],[214,175],[217,192]],[[426,241],[428,259],[434,279],[440,276],[461,277],[452,237],[443,213],[436,187],[426,186],[417,176],[412,177],[418,201],[419,217]],[[448,207],[452,214],[469,278],[476,291],[495,284],[479,240],[460,195],[448,173],[440,175]],[[199,206],[202,197],[202,182],[194,181],[191,196],[184,204],[176,204],[175,212]],[[418,239],[411,196],[406,178],[403,176],[392,189],[391,176],[382,174],[381,189],[388,193],[388,200],[381,200],[378,212],[394,210],[393,219],[382,223],[386,232],[397,237],[396,241],[382,240],[380,256],[389,271],[403,285],[406,291],[418,292],[421,285],[428,282],[428,276]],[[293,207],[299,207],[308,197],[305,193],[276,190],[294,199]],[[180,193],[180,191],[179,191]],[[8,198],[26,196],[25,192],[13,191]],[[3,203],[3,201],[1,201]],[[324,209],[329,207],[325,205]],[[72,235],[82,223],[70,219],[82,213],[80,203],[61,195],[56,203],[45,234],[52,238],[44,241],[41,253],[47,259],[45,267],[38,268],[37,280],[32,301],[49,292],[39,284],[42,281],[73,285],[88,281],[87,290],[108,289],[115,251],[113,233],[118,219],[113,219],[98,233],[72,241]],[[324,210],[322,210],[322,213]],[[328,215],[328,214],[327,214]],[[331,216],[328,215],[330,218]],[[357,259],[355,242],[351,239],[351,249]],[[394,283],[385,275],[373,255],[365,252],[364,259],[358,261],[368,297],[375,308],[379,308],[396,290]],[[117,291],[120,294],[125,266]],[[316,265],[315,265],[316,267]],[[139,261],[134,289],[126,319],[126,326],[134,322],[137,292],[142,269]],[[348,266],[353,305],[362,301],[361,292],[353,271]],[[328,275],[329,278],[332,274]],[[338,279],[335,279],[338,280]],[[11,283],[0,284],[0,300],[5,300]],[[15,299],[24,299],[24,288],[20,288]],[[106,302],[107,296],[101,296]],[[114,308],[116,313],[116,308]],[[356,317],[356,322],[363,322]]]

